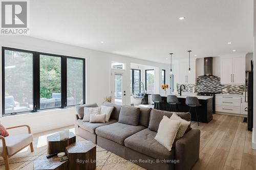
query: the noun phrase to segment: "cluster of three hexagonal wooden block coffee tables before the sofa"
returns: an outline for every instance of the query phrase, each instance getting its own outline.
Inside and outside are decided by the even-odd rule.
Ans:
[[[57,156],[50,159],[45,157],[34,161],[35,170],[68,170],[68,169],[95,169],[96,144],[88,140],[76,141],[74,133],[69,133],[69,138],[59,139],[59,133],[47,137],[48,153],[65,152],[69,160],[60,162]]]

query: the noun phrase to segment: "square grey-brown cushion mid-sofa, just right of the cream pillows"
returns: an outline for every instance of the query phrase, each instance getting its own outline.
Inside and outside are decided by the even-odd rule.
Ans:
[[[119,123],[137,126],[139,125],[140,108],[134,106],[122,106],[119,114]]]

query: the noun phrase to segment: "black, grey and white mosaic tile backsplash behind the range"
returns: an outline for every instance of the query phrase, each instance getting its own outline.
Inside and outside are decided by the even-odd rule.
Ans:
[[[202,77],[197,78],[197,84],[186,84],[185,92],[218,92],[226,94],[243,94],[245,85],[222,85],[221,78],[218,77]],[[180,90],[180,84],[177,84],[177,89]],[[226,89],[227,92],[223,92],[222,89]]]

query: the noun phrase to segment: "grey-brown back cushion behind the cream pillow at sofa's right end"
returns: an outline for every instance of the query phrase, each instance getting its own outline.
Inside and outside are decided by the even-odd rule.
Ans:
[[[173,113],[176,113],[181,118],[190,121],[191,115],[189,112],[168,112],[168,111],[162,111],[162,110],[156,110],[152,109],[150,113],[150,124],[148,125],[148,129],[157,132],[159,124],[161,120],[163,119],[163,116],[167,116],[170,118],[170,116],[173,115]],[[190,130],[190,125],[187,127],[186,132]]]

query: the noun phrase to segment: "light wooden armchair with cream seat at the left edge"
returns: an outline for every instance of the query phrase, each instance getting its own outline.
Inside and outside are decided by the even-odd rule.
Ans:
[[[34,152],[33,148],[33,135],[31,134],[30,127],[28,125],[15,126],[8,129],[27,127],[28,134],[17,134],[17,135],[9,135],[7,137],[0,136],[0,156],[4,158],[5,161],[5,169],[8,170],[9,167],[9,158],[20,150],[28,147],[30,145],[31,152]]]

